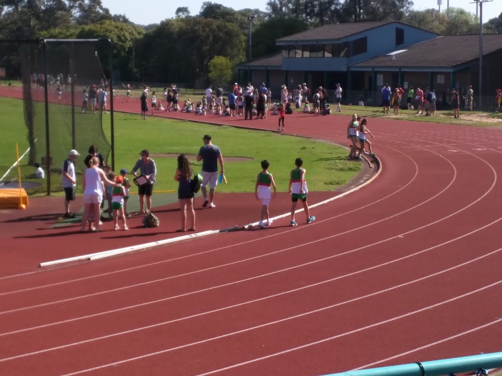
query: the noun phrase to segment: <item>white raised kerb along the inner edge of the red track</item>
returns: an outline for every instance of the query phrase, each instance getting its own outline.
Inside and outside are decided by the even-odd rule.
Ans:
[[[231,127],[242,128],[242,129],[255,129],[255,130],[268,131],[268,132],[272,131],[270,129],[247,128],[247,127],[244,127],[244,126],[240,127],[240,126],[234,126],[234,125],[231,125],[231,124],[208,123],[208,122],[200,121],[200,120],[189,120],[189,121],[198,122],[198,123],[204,123],[204,124],[208,124],[208,125],[218,125],[218,126],[228,125],[228,126],[231,126]],[[305,137],[305,136],[297,136],[295,134],[288,134],[288,135],[290,135],[290,136],[296,136],[296,137],[303,137],[303,138],[312,138],[312,137]],[[380,160],[380,158],[378,158],[376,155],[373,158],[375,159],[376,166],[378,168],[377,168],[377,171],[373,174],[373,176],[371,176],[368,180],[366,180],[364,183],[362,183],[362,184],[354,187],[353,189],[351,189],[351,190],[349,190],[347,192],[344,192],[344,193],[342,193],[340,195],[334,196],[334,197],[332,197],[330,199],[321,201],[321,202],[319,202],[317,204],[313,204],[312,206],[310,206],[310,208],[317,208],[318,206],[325,205],[325,204],[328,204],[328,203],[330,203],[330,202],[332,202],[334,200],[337,200],[337,199],[340,199],[342,197],[345,197],[345,196],[347,196],[347,195],[349,195],[349,194],[351,194],[353,192],[358,191],[362,187],[364,187],[367,184],[369,184],[370,182],[372,182],[376,177],[378,177],[380,175],[380,173],[382,172],[382,169],[383,169],[382,168],[382,161]],[[296,213],[301,213],[302,211],[303,211],[303,209],[298,209],[295,212],[295,214]],[[289,215],[291,215],[291,213],[281,214],[279,216],[271,218],[271,220],[275,221],[275,220],[278,220],[278,219],[282,219],[282,218],[288,217]],[[245,230],[245,229],[252,228],[254,226],[258,226],[258,223],[259,222],[254,222],[254,223],[249,223],[249,224],[244,225],[244,226],[234,226],[234,227],[229,227],[229,228],[220,229],[220,230],[207,230],[207,231],[203,231],[203,232],[200,232],[200,233],[194,233],[194,234],[179,236],[179,237],[171,238],[171,239],[159,240],[159,241],[155,241],[155,242],[151,242],[151,243],[139,244],[139,245],[136,245],[136,246],[123,247],[123,248],[118,248],[118,249],[109,250],[109,251],[96,252],[96,253],[87,254],[87,255],[70,257],[70,258],[66,258],[66,259],[60,259],[60,260],[53,260],[53,261],[42,262],[42,263],[39,264],[39,267],[54,266],[54,265],[66,264],[66,263],[78,262],[78,261],[95,261],[95,260],[100,260],[100,259],[108,258],[108,257],[111,257],[111,256],[117,256],[117,255],[121,255],[121,254],[124,254],[124,253],[141,251],[141,250],[145,250],[145,249],[148,249],[148,248],[154,248],[154,247],[158,247],[158,246],[162,246],[162,245],[166,245],[166,244],[170,244],[170,243],[175,243],[175,242],[180,242],[180,241],[183,241],[183,240],[193,239],[193,238],[197,238],[197,237],[214,235],[214,234],[219,234],[219,233],[226,233],[226,232],[233,232],[233,231],[238,231],[238,230]]]

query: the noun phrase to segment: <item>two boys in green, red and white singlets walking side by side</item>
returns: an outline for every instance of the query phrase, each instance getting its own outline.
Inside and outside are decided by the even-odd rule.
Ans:
[[[262,202],[262,210],[260,214],[260,222],[258,226],[265,229],[266,226],[272,224],[269,214],[270,200],[276,197],[276,183],[274,177],[269,172],[270,163],[268,160],[262,160],[262,171],[256,177],[255,196],[256,199]],[[289,193],[291,195],[291,222],[290,226],[298,226],[295,221],[296,205],[298,200],[302,202],[303,210],[307,216],[307,223],[312,223],[315,220],[314,216],[310,216],[309,207],[307,204],[307,181],[305,180],[305,168],[303,166],[303,159],[296,158],[295,169],[289,175]],[[271,187],[274,193],[271,191]]]

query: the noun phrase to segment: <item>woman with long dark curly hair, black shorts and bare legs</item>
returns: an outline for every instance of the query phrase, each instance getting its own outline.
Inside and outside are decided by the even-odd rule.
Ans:
[[[174,180],[178,181],[178,202],[181,211],[181,227],[176,230],[183,233],[186,230],[187,211],[190,215],[190,228],[195,231],[195,211],[193,210],[194,193],[192,190],[192,167],[185,154],[178,155],[178,168],[174,174]]]

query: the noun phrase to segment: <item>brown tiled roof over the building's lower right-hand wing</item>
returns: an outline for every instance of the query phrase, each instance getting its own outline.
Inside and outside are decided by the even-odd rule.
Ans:
[[[502,49],[502,34],[483,35],[483,55]],[[394,57],[394,58],[393,58]],[[479,35],[445,35],[417,43],[394,56],[379,56],[354,67],[454,67],[479,57]]]

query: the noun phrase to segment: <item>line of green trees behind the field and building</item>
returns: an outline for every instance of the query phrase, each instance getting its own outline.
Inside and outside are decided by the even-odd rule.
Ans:
[[[107,37],[122,81],[203,85],[215,57],[227,59],[231,67],[248,58],[248,17],[254,58],[276,53],[278,38],[333,23],[397,20],[444,35],[479,32],[473,13],[459,8],[417,11],[411,0],[269,0],[266,11],[205,2],[197,15],[180,7],[174,18],[146,26],[111,15],[101,0],[2,0],[0,39]],[[483,30],[502,33],[502,14]],[[0,67],[6,59],[0,52]]]

